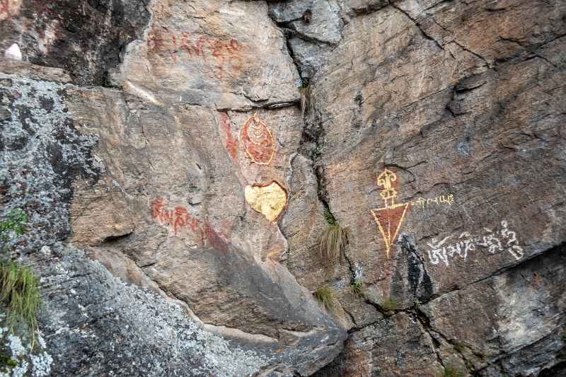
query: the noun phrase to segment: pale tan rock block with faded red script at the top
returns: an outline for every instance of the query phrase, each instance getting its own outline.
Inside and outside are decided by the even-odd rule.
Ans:
[[[298,100],[299,75],[267,4],[155,1],[151,12],[144,40],[127,47],[112,76],[127,93],[153,105],[219,110]]]

